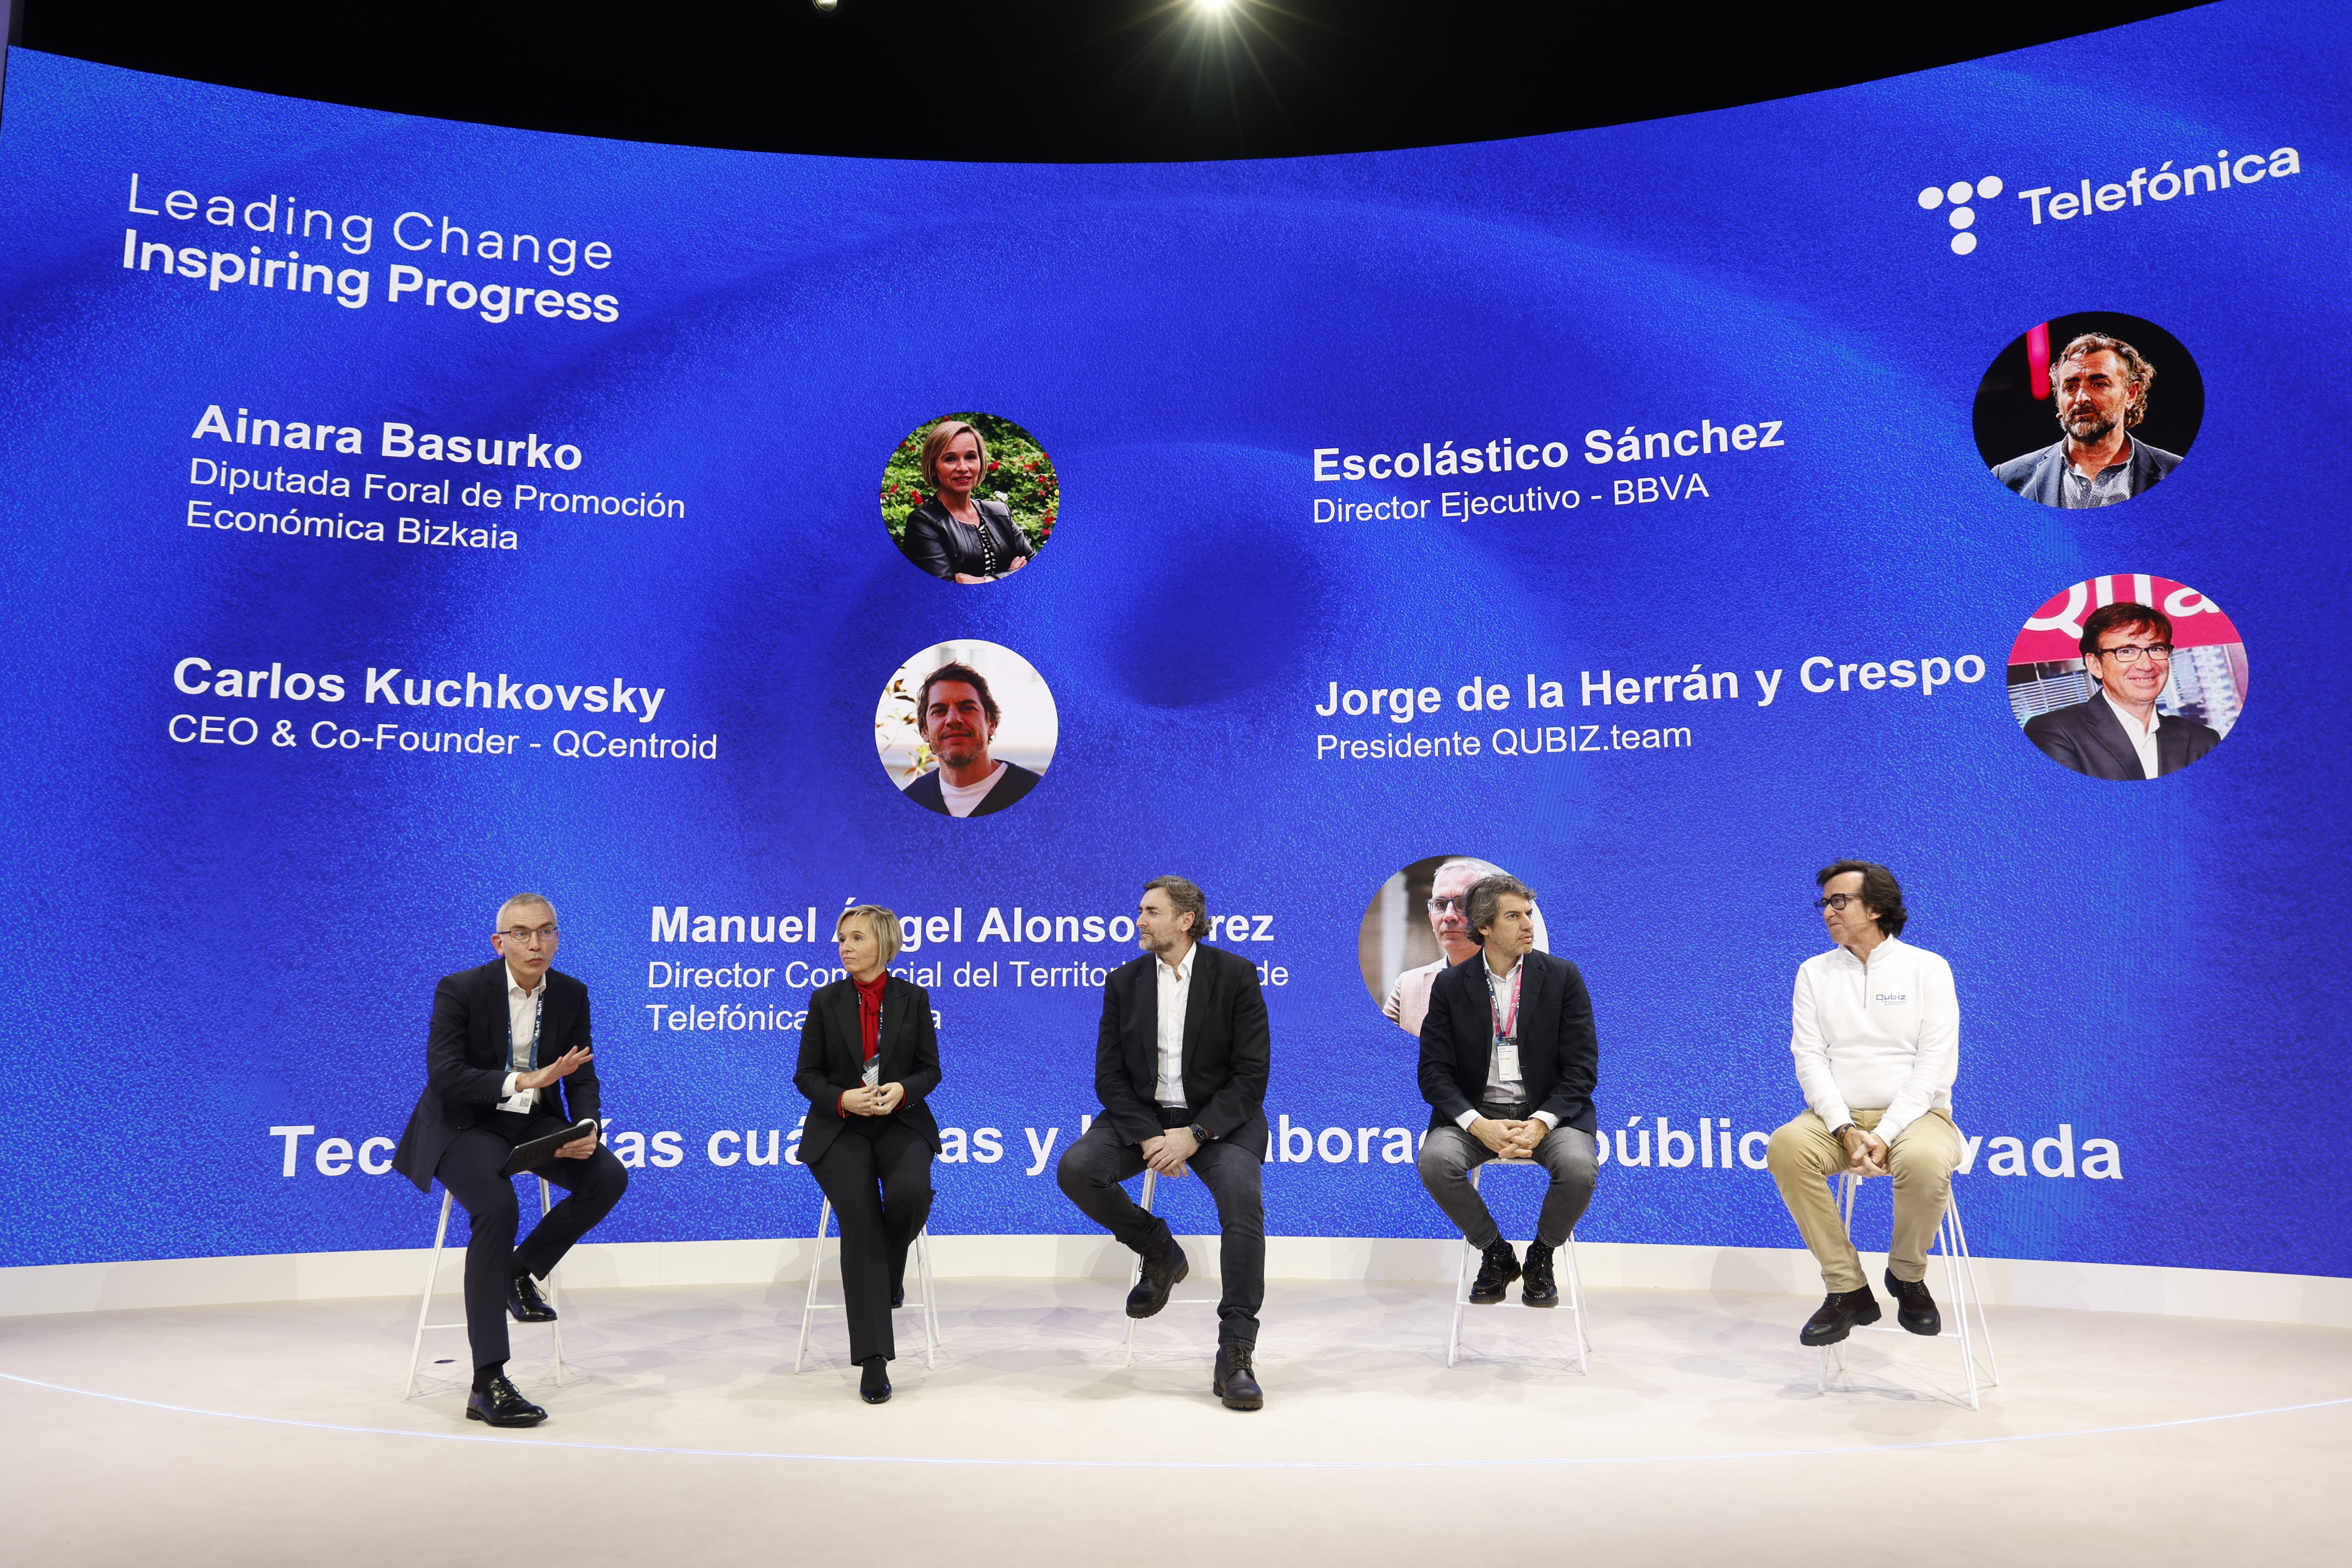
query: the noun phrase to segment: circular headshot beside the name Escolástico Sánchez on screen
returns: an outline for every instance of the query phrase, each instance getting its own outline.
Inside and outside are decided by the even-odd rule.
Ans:
[[[1976,386],[1976,451],[2042,505],[2114,505],[2154,489],[2204,423],[2180,339],[2114,310],[2027,327]]]

